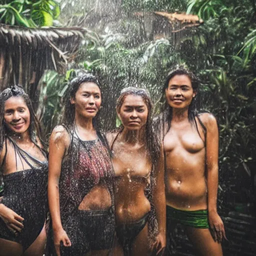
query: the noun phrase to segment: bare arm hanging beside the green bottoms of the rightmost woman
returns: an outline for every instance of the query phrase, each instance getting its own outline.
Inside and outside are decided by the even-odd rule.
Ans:
[[[206,126],[206,178],[207,178],[207,208],[208,220],[212,236],[220,242],[225,237],[224,225],[217,213],[218,189],[218,127],[212,114],[203,114]]]

